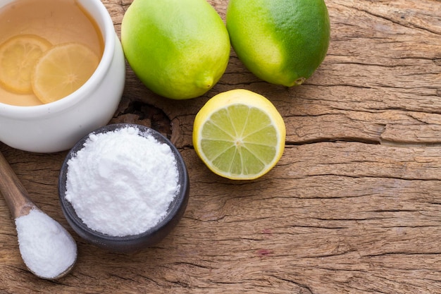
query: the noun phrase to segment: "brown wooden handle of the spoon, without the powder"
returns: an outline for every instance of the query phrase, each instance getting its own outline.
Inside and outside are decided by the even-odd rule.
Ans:
[[[30,209],[36,207],[27,195],[17,175],[0,152],[0,192],[6,200],[14,219],[27,215]]]

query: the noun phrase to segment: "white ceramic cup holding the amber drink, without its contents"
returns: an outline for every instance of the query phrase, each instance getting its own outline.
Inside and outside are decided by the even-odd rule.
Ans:
[[[38,106],[0,103],[0,141],[29,152],[70,149],[111,120],[125,84],[125,58],[113,21],[100,0],[77,0],[95,19],[104,53],[92,77],[72,94]],[[1,6],[13,0],[2,1]]]

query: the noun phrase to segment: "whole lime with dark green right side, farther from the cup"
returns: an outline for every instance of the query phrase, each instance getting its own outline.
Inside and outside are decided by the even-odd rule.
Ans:
[[[328,51],[330,20],[323,0],[230,0],[226,23],[237,57],[276,85],[302,84]]]

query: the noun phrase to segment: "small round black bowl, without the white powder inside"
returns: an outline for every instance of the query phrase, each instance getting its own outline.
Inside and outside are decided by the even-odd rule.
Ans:
[[[120,128],[125,128],[128,126],[138,128],[142,131],[140,133],[145,133],[148,131],[149,134],[153,135],[158,142],[166,143],[168,146],[170,146],[170,149],[172,150],[176,158],[179,173],[178,183],[180,185],[180,190],[175,196],[173,202],[170,203],[167,215],[162,219],[162,221],[157,223],[156,226],[138,235],[115,237],[94,231],[86,226],[85,223],[82,222],[80,217],[77,216],[77,214],[75,213],[75,209],[73,208],[72,204],[70,204],[70,202],[66,200],[66,178],[68,171],[67,163],[68,160],[73,157],[77,151],[82,149],[85,141],[89,138],[89,135],[106,133],[108,131],[118,130]],[[97,245],[98,247],[104,248],[111,252],[137,252],[145,247],[150,247],[152,245],[155,245],[156,243],[159,243],[159,241],[165,238],[166,235],[168,235],[168,233],[172,231],[178,221],[180,221],[180,219],[182,218],[182,215],[184,214],[187,207],[188,198],[190,196],[190,181],[188,178],[185,162],[182,159],[180,152],[170,142],[170,140],[161,135],[161,133],[158,133],[156,132],[156,130],[152,130],[151,128],[147,128],[143,125],[128,123],[106,125],[102,128],[94,130],[94,132],[90,133],[89,135],[83,137],[72,149],[70,149],[70,152],[68,152],[68,155],[63,162],[60,176],[58,178],[58,193],[61,202],[61,209],[63,210],[63,214],[66,217],[69,225],[78,235],[80,235],[81,238],[87,240],[87,242]]]

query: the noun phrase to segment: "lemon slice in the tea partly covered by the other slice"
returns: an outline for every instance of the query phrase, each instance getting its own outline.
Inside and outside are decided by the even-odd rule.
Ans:
[[[51,43],[36,35],[17,35],[0,45],[0,83],[6,90],[32,93],[35,63]]]

